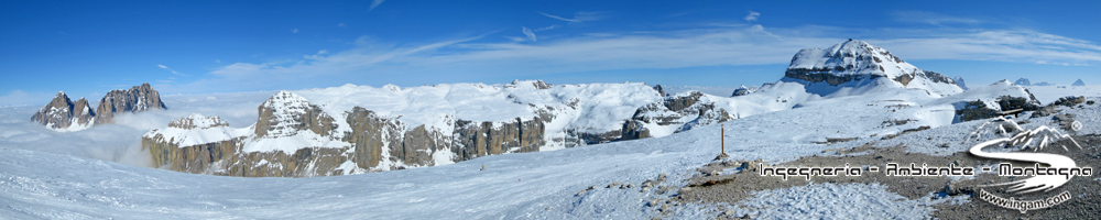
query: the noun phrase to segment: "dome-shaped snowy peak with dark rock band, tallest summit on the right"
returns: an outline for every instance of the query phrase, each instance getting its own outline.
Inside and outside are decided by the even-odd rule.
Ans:
[[[933,97],[963,91],[949,77],[922,70],[884,48],[859,40],[849,40],[826,50],[800,50],[781,80],[821,87],[808,88],[818,95],[832,94],[838,87],[865,86],[922,89]]]

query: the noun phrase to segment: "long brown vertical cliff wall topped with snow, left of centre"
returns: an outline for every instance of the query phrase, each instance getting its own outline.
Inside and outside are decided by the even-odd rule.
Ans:
[[[307,177],[435,166],[486,155],[535,152],[547,119],[468,121],[413,128],[360,107],[349,128],[301,96],[281,91],[258,108],[257,123],[229,129],[216,117],[190,116],[142,139],[154,164],[177,172],[246,177]],[[545,116],[544,116],[545,117]],[[338,132],[344,131],[344,132]],[[195,136],[212,136],[194,140]]]

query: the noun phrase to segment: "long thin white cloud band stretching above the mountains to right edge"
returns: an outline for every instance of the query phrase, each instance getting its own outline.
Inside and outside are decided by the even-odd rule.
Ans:
[[[883,36],[875,34],[887,30],[715,26],[581,34],[546,40],[541,44],[522,43],[537,40],[534,30],[528,28],[523,29],[531,32],[531,36],[511,41],[472,41],[481,38],[479,36],[411,45],[385,44],[364,36],[357,40],[351,50],[317,53],[301,59],[231,64],[211,72],[209,75],[214,78],[196,84],[293,89],[293,86],[318,87],[308,86],[312,85],[308,82],[331,81],[331,78],[345,79],[340,84],[402,84],[425,78],[444,82],[601,70],[787,64],[802,48],[828,47],[846,40],[836,36],[865,40],[906,61],[996,61],[1071,66],[1101,63],[1101,46],[1094,42],[1031,31],[892,29],[893,33],[905,34]]]

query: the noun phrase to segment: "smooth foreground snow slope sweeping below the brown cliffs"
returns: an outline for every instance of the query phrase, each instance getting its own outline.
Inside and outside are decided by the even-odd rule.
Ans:
[[[868,114],[827,116],[881,111],[881,107],[835,107],[839,106],[811,105],[727,122],[727,153],[768,162],[818,154],[836,146],[806,141],[827,134],[863,135],[875,127],[850,125]],[[669,185],[684,185],[695,167],[717,154],[718,129],[701,127],[665,138],[488,156],[447,166],[312,178],[193,175],[0,148],[0,188],[7,191],[0,200],[8,205],[0,212],[17,218],[641,219],[654,215],[644,207],[646,201],[671,195],[637,188],[576,194],[613,182],[640,185],[661,173],[671,174]],[[479,170],[482,165],[486,170]],[[884,199],[875,200],[884,202],[882,207],[893,208],[864,210],[883,213],[916,202],[890,193],[880,196]],[[906,213],[927,213],[923,210]],[[689,219],[709,215],[682,211],[682,218]]]

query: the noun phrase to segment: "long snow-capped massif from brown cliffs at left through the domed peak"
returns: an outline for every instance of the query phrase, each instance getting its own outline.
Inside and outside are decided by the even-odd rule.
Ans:
[[[848,41],[829,50],[803,50],[780,81],[743,87],[733,97],[693,90],[663,96],[661,86],[641,82],[346,85],[280,91],[260,105],[257,122],[248,128],[170,125],[146,133],[142,143],[157,166],[172,165],[174,170],[230,176],[344,175],[661,138],[850,95],[905,100],[897,108],[920,106],[900,112],[894,120],[918,122],[876,131],[881,133],[989,118],[1009,108],[1002,108],[1006,101],[1036,103],[1023,87],[1005,84],[963,92],[948,77],[918,69],[880,47]],[[188,119],[198,118],[179,120]],[[186,156],[193,154],[211,156]]]

